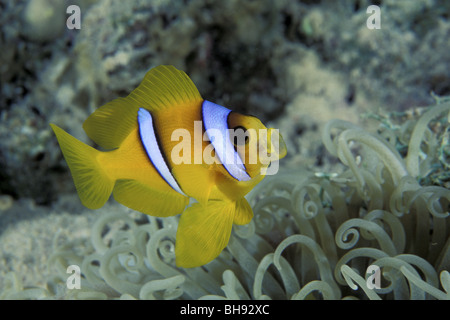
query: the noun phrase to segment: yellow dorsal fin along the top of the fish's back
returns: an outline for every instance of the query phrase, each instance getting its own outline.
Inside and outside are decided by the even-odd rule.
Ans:
[[[159,112],[201,101],[192,80],[173,66],[158,66],[126,98],[101,106],[84,122],[86,134],[105,149],[115,149],[137,125],[137,112]]]

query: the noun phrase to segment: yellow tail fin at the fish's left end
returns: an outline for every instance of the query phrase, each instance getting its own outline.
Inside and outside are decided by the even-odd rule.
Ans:
[[[81,203],[89,209],[98,209],[108,200],[114,180],[98,162],[101,151],[75,139],[54,124],[50,124],[67,161]]]

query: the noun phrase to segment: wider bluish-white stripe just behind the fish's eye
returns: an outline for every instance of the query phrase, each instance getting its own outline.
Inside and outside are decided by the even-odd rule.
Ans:
[[[203,101],[202,116],[206,134],[222,165],[239,181],[248,181],[241,157],[236,152],[228,134],[228,115],[231,110],[210,101]]]

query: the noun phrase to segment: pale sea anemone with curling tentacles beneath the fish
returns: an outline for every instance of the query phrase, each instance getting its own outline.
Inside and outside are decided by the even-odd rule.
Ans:
[[[268,178],[249,196],[254,219],[203,267],[175,267],[177,217],[124,209],[102,214],[84,243],[55,237],[46,288],[23,288],[10,273],[1,297],[450,299],[447,100],[420,116],[372,115],[383,120],[378,133],[328,122],[323,143],[345,170]],[[70,265],[80,289],[66,285]]]

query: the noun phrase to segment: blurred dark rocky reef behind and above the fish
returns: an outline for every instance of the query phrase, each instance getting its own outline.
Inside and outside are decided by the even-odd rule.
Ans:
[[[39,204],[73,191],[48,123],[83,137],[95,108],[159,64],[211,101],[277,121],[297,163],[323,152],[311,136],[336,115],[449,90],[448,1],[383,1],[379,32],[365,27],[367,0],[71,3],[80,30],[65,28],[63,1],[0,1],[0,192]]]

